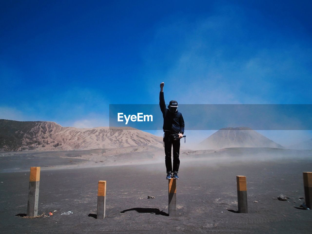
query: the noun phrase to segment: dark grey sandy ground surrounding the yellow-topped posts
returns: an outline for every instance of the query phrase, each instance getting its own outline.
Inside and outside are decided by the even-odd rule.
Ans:
[[[164,162],[84,168],[81,165],[95,164],[94,161],[90,164],[75,161],[76,166],[54,168],[53,163],[62,165],[67,161],[40,157],[37,162],[51,162],[51,167],[41,171],[38,214],[57,212],[37,219],[16,216],[26,213],[29,169],[7,172],[1,166],[1,230],[2,233],[310,233],[312,212],[300,209],[304,202],[300,197],[304,197],[302,172],[312,170],[311,151],[273,150],[275,158],[259,157],[259,152],[263,155],[266,150],[271,151],[227,149],[181,157],[178,217],[168,217]],[[247,158],[251,152],[254,154]],[[293,158],[294,155],[297,157]],[[2,157],[1,165],[6,162],[7,168],[14,168],[20,160],[28,167],[31,164],[28,161],[33,160],[29,158],[32,157]],[[235,212],[236,175],[247,177],[248,214]],[[107,181],[104,220],[94,218],[98,180]],[[290,199],[272,199],[281,193]],[[147,199],[148,195],[155,199]],[[73,214],[61,215],[67,211]]]

